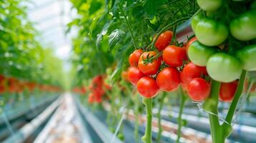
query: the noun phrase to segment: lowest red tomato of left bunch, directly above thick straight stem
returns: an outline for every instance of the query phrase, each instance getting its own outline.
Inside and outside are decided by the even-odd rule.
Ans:
[[[153,98],[159,92],[159,87],[152,77],[142,77],[137,83],[137,90],[142,97]]]

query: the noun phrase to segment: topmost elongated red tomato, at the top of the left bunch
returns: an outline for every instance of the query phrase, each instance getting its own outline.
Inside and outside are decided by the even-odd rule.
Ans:
[[[172,31],[164,31],[164,33],[160,34],[154,46],[158,49],[158,51],[162,51],[169,43],[172,41]]]

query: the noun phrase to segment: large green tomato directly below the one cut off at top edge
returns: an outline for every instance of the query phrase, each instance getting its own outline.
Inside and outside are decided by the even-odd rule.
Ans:
[[[225,24],[205,18],[195,27],[195,35],[200,43],[206,46],[217,46],[227,39],[228,28]]]

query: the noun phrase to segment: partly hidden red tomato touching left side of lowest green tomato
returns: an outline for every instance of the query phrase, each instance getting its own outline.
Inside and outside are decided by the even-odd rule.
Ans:
[[[202,75],[207,75],[206,67],[205,66],[197,66],[190,62],[180,74],[180,79],[182,81],[182,87],[187,87],[187,84],[192,81],[192,79],[196,77],[201,77]]]

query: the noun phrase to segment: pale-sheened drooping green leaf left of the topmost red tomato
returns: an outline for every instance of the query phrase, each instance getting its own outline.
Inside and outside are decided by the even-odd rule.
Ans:
[[[109,51],[111,51],[114,46],[117,45],[123,35],[124,31],[122,31],[121,29],[115,29],[114,31],[112,31],[112,33],[109,35]]]

